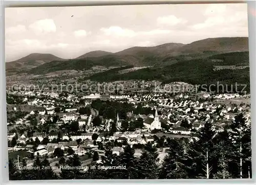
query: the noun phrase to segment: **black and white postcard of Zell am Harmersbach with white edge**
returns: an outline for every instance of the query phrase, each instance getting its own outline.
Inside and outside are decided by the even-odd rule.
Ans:
[[[5,59],[10,180],[252,178],[246,3],[5,8]]]

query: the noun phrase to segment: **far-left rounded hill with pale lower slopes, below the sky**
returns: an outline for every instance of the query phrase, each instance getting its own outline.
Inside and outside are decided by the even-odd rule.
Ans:
[[[26,71],[51,61],[65,60],[66,59],[61,59],[52,54],[30,54],[16,61],[6,62],[6,70],[7,72]]]

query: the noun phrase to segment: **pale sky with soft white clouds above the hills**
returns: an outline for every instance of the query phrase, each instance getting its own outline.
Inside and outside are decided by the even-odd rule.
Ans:
[[[248,37],[247,4],[5,9],[6,61],[32,53],[72,59],[93,50]]]

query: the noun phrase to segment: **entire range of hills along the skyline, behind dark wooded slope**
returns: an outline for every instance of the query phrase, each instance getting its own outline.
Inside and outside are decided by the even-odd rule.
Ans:
[[[190,44],[166,43],[153,47],[131,47],[115,54],[97,50],[68,61],[50,54],[31,54],[17,61],[6,63],[6,70],[9,73],[29,71],[34,74],[45,74],[44,71],[86,70],[92,66],[163,67],[214,55],[221,57],[221,54],[237,51],[248,51],[248,37],[208,38]],[[225,55],[225,57],[228,56]],[[62,61],[67,63],[62,63]]]

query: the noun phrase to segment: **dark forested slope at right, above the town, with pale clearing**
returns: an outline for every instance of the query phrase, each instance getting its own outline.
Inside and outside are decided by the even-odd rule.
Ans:
[[[247,91],[250,84],[249,68],[231,70],[224,69],[214,71],[216,59],[221,60],[222,65],[249,65],[248,52],[232,52],[222,55],[215,55],[205,59],[180,61],[169,66],[139,69],[136,71],[119,74],[113,71],[98,73],[83,80],[98,82],[122,81],[122,80],[159,80],[164,83],[186,82],[189,84],[247,84]],[[117,70],[117,69],[115,69]]]

